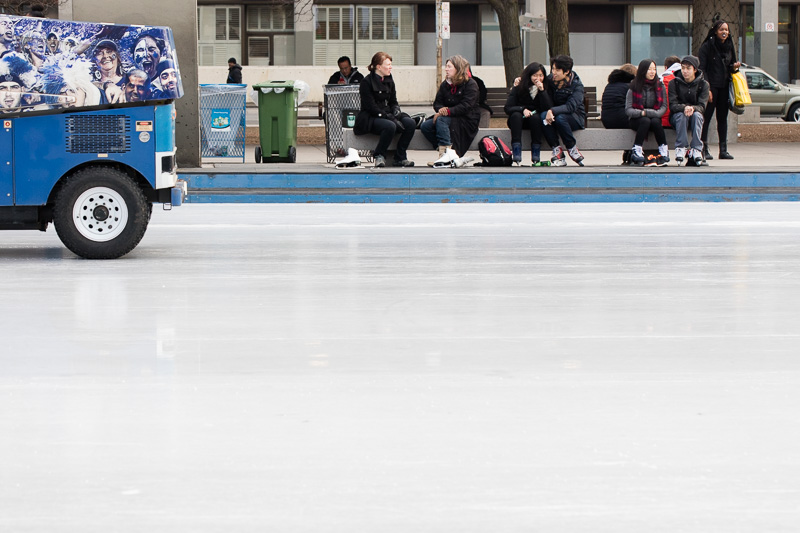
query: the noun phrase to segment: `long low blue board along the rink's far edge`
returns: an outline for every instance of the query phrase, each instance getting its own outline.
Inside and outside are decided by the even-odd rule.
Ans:
[[[202,173],[190,203],[797,201],[800,173]]]

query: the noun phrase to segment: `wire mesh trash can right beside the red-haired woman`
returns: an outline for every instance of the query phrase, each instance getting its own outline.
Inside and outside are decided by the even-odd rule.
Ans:
[[[361,110],[361,94],[358,85],[325,85],[325,147],[328,163],[347,155],[344,145],[344,129],[352,128],[355,117]],[[358,155],[372,160],[371,150],[359,150]]]

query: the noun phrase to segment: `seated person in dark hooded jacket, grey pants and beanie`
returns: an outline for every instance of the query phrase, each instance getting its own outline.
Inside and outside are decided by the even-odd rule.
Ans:
[[[707,165],[703,160],[703,111],[708,104],[708,82],[700,71],[700,60],[695,56],[681,59],[681,70],[669,82],[669,122],[675,128],[675,161],[687,157],[687,164]],[[687,128],[692,130],[689,146]],[[687,153],[688,151],[688,153]]]

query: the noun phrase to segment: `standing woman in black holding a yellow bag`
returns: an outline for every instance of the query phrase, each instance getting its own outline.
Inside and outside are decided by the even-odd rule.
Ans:
[[[711,86],[708,93],[708,105],[703,113],[703,156],[713,159],[708,151],[708,125],[714,111],[717,112],[717,133],[719,134],[719,158],[733,159],[728,153],[728,91],[730,90],[731,74],[739,70],[739,61],[736,59],[736,47],[728,30],[728,23],[718,20],[714,23],[705,42],[698,52],[700,70]]]

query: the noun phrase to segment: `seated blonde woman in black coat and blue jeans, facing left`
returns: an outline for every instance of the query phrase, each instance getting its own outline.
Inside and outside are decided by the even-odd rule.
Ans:
[[[481,121],[478,84],[469,75],[469,62],[453,56],[445,64],[445,80],[439,86],[433,109],[436,114],[420,129],[443,155],[452,148],[458,157],[469,150]]]

